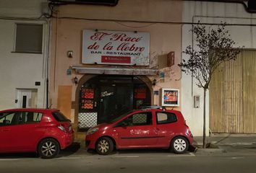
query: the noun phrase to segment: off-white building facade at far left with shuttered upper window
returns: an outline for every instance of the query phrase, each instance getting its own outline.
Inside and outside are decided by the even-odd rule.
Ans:
[[[46,107],[49,22],[42,16],[44,4],[0,2],[0,110]]]

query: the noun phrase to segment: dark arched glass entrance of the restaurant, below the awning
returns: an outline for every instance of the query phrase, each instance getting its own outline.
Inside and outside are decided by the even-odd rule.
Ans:
[[[87,130],[150,104],[150,89],[137,76],[95,76],[80,88],[78,129]]]

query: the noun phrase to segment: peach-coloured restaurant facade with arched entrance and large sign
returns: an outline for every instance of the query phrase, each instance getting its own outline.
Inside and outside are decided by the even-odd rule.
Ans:
[[[77,131],[162,98],[182,110],[181,22],[182,1],[55,6],[51,104]]]

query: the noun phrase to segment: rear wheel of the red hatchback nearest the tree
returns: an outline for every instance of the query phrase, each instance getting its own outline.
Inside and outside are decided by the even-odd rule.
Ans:
[[[177,136],[171,141],[171,150],[176,154],[184,154],[187,148],[189,148],[189,143],[182,136]]]

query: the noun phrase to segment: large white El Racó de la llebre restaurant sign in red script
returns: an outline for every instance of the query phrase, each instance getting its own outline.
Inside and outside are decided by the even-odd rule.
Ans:
[[[82,31],[82,63],[149,65],[149,32]]]

